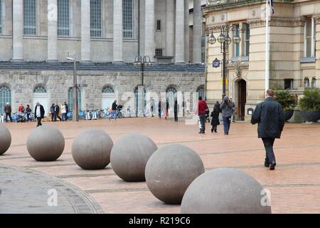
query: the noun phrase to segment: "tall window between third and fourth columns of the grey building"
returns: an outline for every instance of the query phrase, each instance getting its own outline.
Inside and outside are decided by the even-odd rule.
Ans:
[[[102,37],[101,0],[90,1],[91,37]]]

